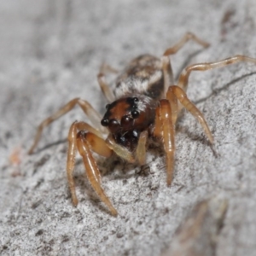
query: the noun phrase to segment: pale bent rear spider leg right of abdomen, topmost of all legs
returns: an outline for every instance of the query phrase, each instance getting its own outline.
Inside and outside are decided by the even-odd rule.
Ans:
[[[201,46],[203,46],[204,48],[207,48],[210,45],[207,42],[201,40],[200,38],[197,38],[195,36],[195,34],[193,34],[191,32],[187,32],[177,44],[166,49],[164,55],[161,58],[162,69],[163,69],[163,73],[164,73],[165,92],[168,89],[168,86],[174,84],[172,65],[171,65],[169,55],[176,54],[177,51],[179,49],[181,49],[183,47],[183,45],[186,44],[189,40],[193,40],[193,41],[195,41],[195,43],[201,44]]]

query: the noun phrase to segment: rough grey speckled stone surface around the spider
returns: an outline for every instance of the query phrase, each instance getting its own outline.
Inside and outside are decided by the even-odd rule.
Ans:
[[[255,255],[253,64],[191,75],[188,95],[208,121],[216,154],[185,113],[177,129],[171,188],[159,150],[149,150],[147,177],[137,174],[137,166],[100,160],[117,218],[90,188],[81,161],[75,174],[79,206],[71,204],[66,137],[73,120],[86,119],[79,108],[50,125],[36,154],[26,155],[39,122],[73,97],[104,111],[96,83],[102,61],[120,68],[142,53],[160,56],[187,31],[211,47],[199,51],[195,43],[187,44],[172,57],[175,73],[192,62],[256,57],[255,13],[254,0],[2,0],[0,254],[160,255],[192,207],[216,195],[229,205],[216,255]]]

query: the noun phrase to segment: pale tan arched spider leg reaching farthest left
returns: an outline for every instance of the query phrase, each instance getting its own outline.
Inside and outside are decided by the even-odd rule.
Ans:
[[[89,102],[83,101],[80,98],[75,98],[72,101],[68,102],[59,111],[57,111],[56,113],[51,115],[49,118],[44,119],[44,121],[38,126],[37,135],[34,139],[32,147],[28,151],[28,154],[32,154],[34,149],[37,147],[44,127],[48,126],[56,119],[59,119],[62,115],[64,115],[65,113],[67,113],[71,109],[73,109],[77,104],[79,105],[80,108],[82,108],[84,113],[88,116],[88,118],[90,119],[92,124],[96,126],[97,130],[102,131],[103,133],[108,133],[107,129],[101,125],[101,120],[102,120],[101,114],[96,112],[96,110],[94,108],[92,108],[92,106],[90,105]],[[97,135],[100,134],[99,131],[96,131],[96,129],[90,125],[88,125],[88,128],[86,130],[92,131],[92,132],[96,133]]]

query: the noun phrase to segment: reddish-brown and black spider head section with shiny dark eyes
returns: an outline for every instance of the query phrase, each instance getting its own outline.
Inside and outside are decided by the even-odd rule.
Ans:
[[[155,104],[148,96],[126,96],[106,106],[102,125],[107,126],[116,143],[133,150],[141,131],[154,123]]]

